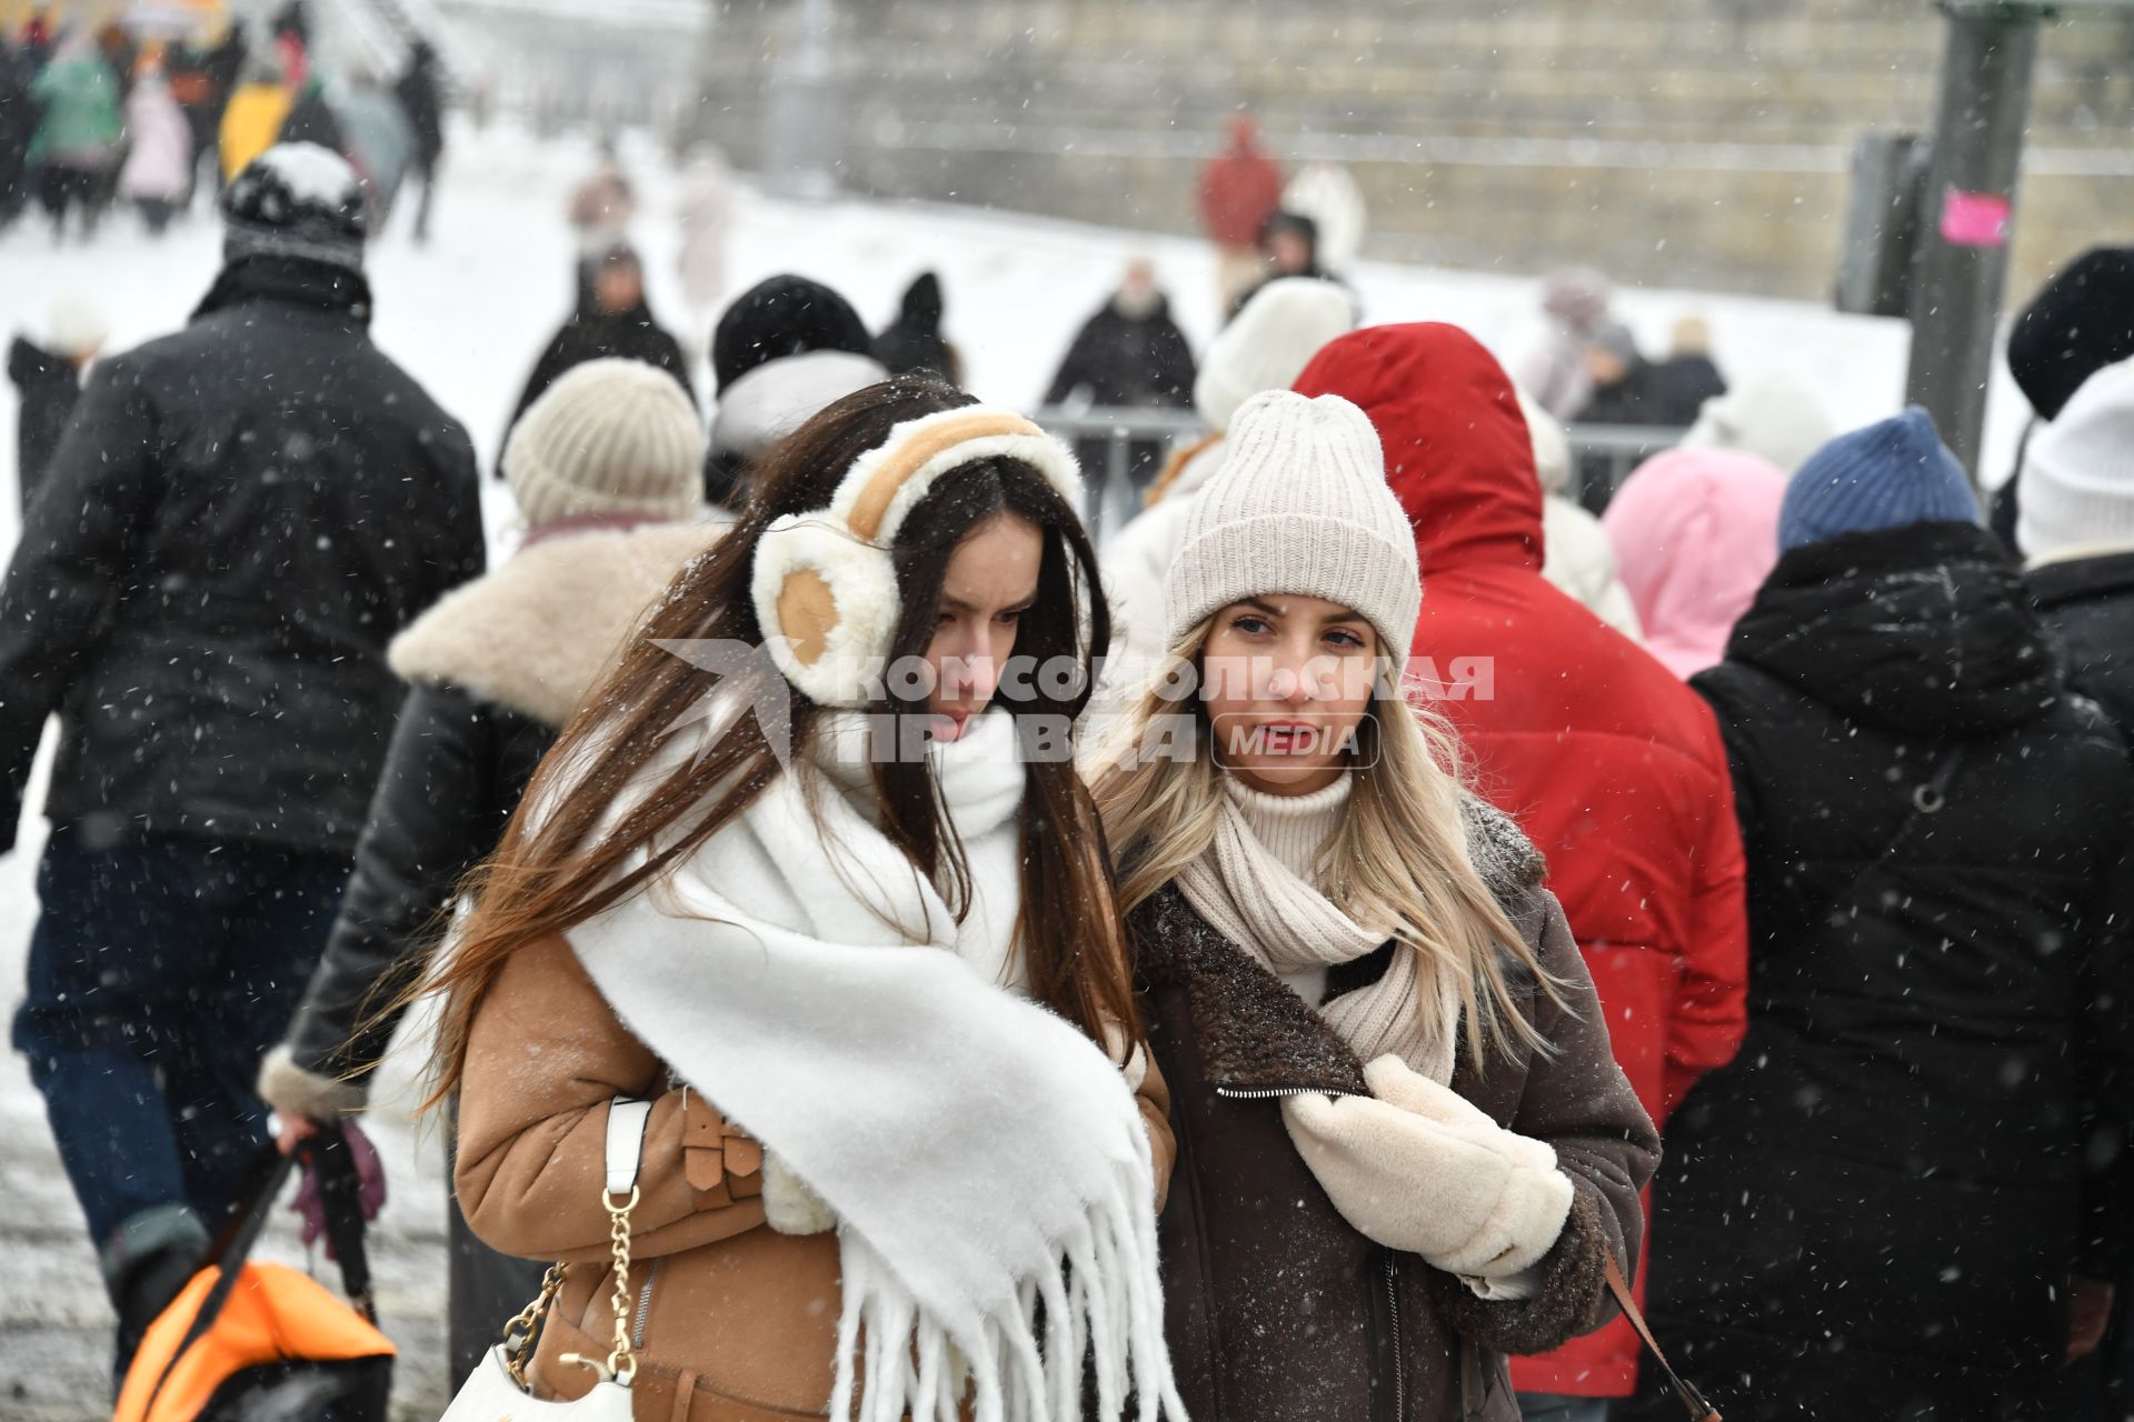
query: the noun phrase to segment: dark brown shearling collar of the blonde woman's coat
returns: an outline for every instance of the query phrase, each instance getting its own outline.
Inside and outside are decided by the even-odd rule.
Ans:
[[[1468,795],[1462,808],[1475,868],[1513,925],[1532,940],[1541,932],[1532,915],[1534,889],[1547,870],[1541,851],[1496,806]],[[1368,1094],[1364,1064],[1349,1045],[1304,998],[1208,927],[1176,885],[1165,885],[1133,910],[1129,934],[1142,985],[1184,989],[1193,1038],[1216,1087]],[[1385,959],[1381,949],[1342,968],[1361,972],[1368,981],[1372,968],[1385,970]],[[1336,991],[1357,985],[1336,983]],[[1466,1051],[1460,1051],[1455,1089],[1466,1070]]]

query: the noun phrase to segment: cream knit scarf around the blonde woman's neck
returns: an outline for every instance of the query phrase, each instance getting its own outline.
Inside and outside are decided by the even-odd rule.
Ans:
[[[1259,842],[1229,795],[1223,795],[1214,840],[1178,876],[1178,891],[1212,930],[1274,974],[1334,968],[1391,938],[1391,930],[1357,923],[1297,878]],[[1394,964],[1383,979],[1334,998],[1319,1008],[1319,1017],[1364,1062],[1391,1051],[1438,1085],[1453,1079],[1460,993],[1421,951],[1404,942],[1394,944]]]

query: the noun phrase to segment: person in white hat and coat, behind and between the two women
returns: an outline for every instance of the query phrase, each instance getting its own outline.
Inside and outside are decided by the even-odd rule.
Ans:
[[[1135,686],[1169,650],[1163,578],[1178,559],[1193,501],[1223,467],[1231,418],[1255,394],[1287,390],[1321,345],[1353,328],[1349,292],[1332,281],[1280,277],[1259,288],[1208,345],[1193,377],[1193,411],[1210,435],[1172,454],[1148,488],[1148,507],[1103,544],[1103,591],[1116,633],[1108,686]]]

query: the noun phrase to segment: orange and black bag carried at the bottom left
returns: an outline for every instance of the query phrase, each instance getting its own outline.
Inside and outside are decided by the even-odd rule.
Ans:
[[[348,1143],[324,1126],[305,1153],[354,1307],[294,1269],[248,1262],[297,1164],[267,1151],[243,1209],[141,1339],[113,1422],[384,1422],[395,1350],[369,1305]]]

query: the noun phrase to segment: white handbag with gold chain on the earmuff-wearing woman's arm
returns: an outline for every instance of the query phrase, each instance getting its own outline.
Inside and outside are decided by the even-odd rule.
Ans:
[[[638,1162],[644,1156],[644,1124],[651,1113],[649,1100],[608,1102],[608,1179],[600,1202],[608,1211],[608,1239],[615,1247],[615,1352],[606,1358],[580,1354],[561,1358],[593,1369],[600,1381],[568,1403],[544,1403],[527,1386],[525,1367],[534,1360],[540,1324],[563,1292],[563,1266],[553,1264],[542,1279],[540,1296],[504,1326],[504,1341],[467,1375],[440,1422],[632,1422],[630,1381],[638,1375],[638,1360],[630,1347],[630,1211],[638,1207]]]

